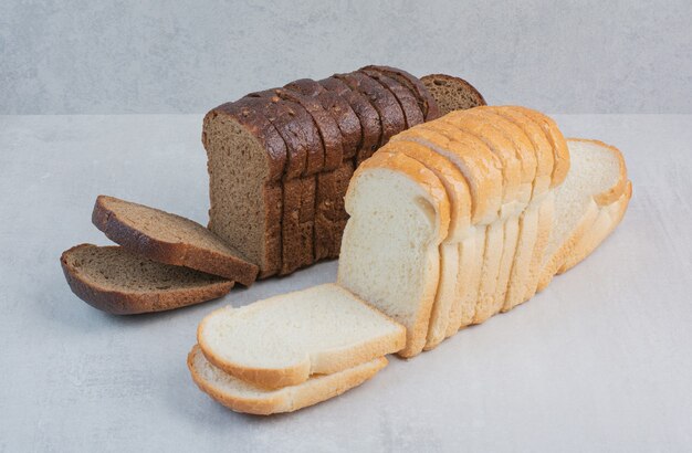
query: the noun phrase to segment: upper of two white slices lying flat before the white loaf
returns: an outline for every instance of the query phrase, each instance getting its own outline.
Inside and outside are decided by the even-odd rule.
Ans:
[[[263,388],[396,352],[405,339],[402,326],[333,283],[217,309],[197,330],[209,361]]]

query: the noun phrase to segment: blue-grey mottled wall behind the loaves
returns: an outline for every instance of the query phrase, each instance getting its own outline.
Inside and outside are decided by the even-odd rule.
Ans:
[[[691,18],[690,0],[3,0],[0,114],[199,114],[369,63],[547,112],[692,113]]]

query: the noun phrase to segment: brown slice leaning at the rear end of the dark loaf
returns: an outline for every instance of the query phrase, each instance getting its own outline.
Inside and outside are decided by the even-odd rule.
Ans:
[[[434,97],[440,115],[486,105],[481,93],[463,78],[447,74],[430,74],[420,81]]]

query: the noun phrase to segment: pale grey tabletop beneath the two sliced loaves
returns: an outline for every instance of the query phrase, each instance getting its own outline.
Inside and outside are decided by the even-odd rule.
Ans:
[[[0,451],[689,451],[692,116],[557,116],[627,158],[635,196],[586,262],[525,305],[340,398],[227,411],[185,366],[201,317],[334,278],[326,263],[177,312],[112,317],[62,250],[107,243],[98,193],[205,222],[201,117],[0,116]]]

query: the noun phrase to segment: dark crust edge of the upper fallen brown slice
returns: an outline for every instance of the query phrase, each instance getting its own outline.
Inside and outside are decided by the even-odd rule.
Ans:
[[[167,242],[153,238],[137,229],[137,225],[123,219],[120,213],[117,212],[117,207],[114,206],[114,201],[136,204],[156,211],[162,215],[175,218],[176,221],[190,222],[202,230],[206,229],[180,215],[137,203],[129,203],[112,197],[98,196],[94,203],[92,222],[98,230],[104,232],[106,238],[119,244],[125,250],[151,261],[176,266],[186,266],[208,274],[219,275],[239,282],[245,286],[250,286],[254,283],[259,267],[248,262],[240,252],[232,250],[229,245],[227,245],[229,253],[221,253],[217,250],[203,249],[190,242],[184,242],[182,240],[179,242]],[[209,231],[209,235],[221,241],[221,239],[216,236],[211,231]]]

